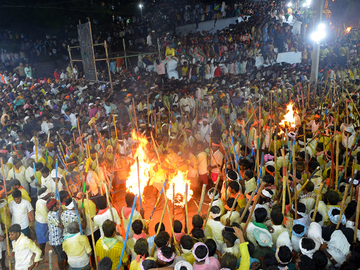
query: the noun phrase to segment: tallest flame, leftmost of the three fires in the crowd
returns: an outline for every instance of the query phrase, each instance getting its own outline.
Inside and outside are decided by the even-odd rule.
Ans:
[[[146,145],[148,143],[146,136],[136,134],[135,130],[132,130],[131,137],[133,140],[138,140],[139,145],[135,151],[134,160],[135,163],[130,167],[129,177],[126,180],[126,192],[139,194],[138,184],[138,165],[136,164],[136,157],[139,158],[139,175],[140,175],[140,192],[141,198],[144,198],[144,188],[148,183],[150,164],[147,163],[148,150]]]

